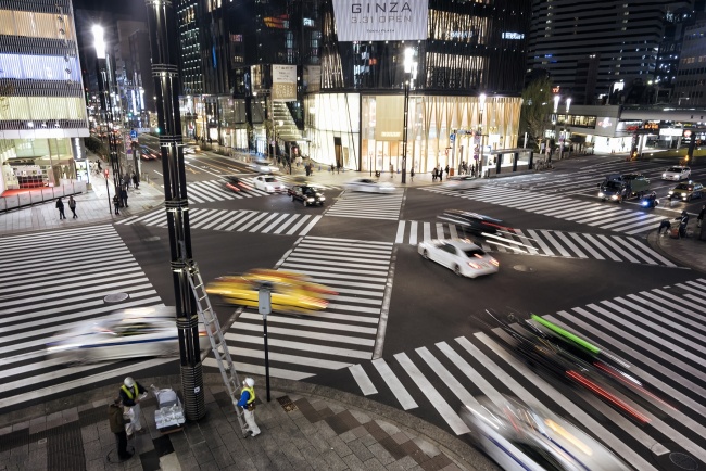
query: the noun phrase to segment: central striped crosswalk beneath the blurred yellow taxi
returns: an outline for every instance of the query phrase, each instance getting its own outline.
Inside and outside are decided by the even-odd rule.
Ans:
[[[267,316],[269,373],[301,380],[373,358],[391,290],[393,244],[353,239],[302,238],[278,264],[336,290],[328,307],[307,317]],[[264,374],[262,316],[244,309],[225,333],[238,371]],[[207,367],[217,368],[207,358]]]

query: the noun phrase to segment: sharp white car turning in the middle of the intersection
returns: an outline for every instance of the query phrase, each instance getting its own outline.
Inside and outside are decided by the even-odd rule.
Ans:
[[[442,265],[458,276],[476,278],[496,273],[500,263],[468,239],[430,239],[419,242],[423,257]]]

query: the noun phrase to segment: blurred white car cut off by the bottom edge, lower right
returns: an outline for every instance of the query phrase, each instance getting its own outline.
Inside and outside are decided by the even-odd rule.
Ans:
[[[503,469],[610,470],[631,468],[571,422],[541,406],[502,396],[500,404],[478,397],[459,416],[478,446]]]

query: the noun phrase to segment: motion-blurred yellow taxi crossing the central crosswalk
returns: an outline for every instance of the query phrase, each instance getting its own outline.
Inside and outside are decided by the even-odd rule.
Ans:
[[[220,296],[227,304],[257,307],[259,292],[264,284],[270,290],[273,311],[285,314],[312,314],[325,309],[327,298],[337,294],[306,276],[291,271],[278,273],[277,270],[251,270],[239,276],[219,277],[209,283],[206,292]]]

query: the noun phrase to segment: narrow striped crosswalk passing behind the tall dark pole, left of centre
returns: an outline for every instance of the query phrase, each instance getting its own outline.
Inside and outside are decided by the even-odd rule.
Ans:
[[[259,232],[277,236],[306,236],[320,215],[267,213],[245,209],[206,209],[189,208],[189,226],[191,229],[212,229],[227,232]],[[131,216],[115,222],[116,225],[166,227],[167,218],[164,209],[156,209],[144,215]]]

